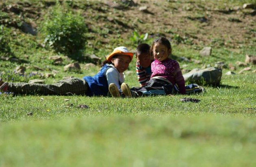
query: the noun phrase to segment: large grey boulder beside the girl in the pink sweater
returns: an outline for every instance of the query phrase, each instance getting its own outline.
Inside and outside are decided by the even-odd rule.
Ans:
[[[183,77],[185,81],[199,85],[219,85],[221,81],[222,70],[216,67],[206,69],[193,69]]]

